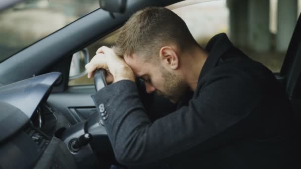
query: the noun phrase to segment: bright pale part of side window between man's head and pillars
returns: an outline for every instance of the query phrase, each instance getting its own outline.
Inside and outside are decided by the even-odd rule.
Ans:
[[[226,0],[187,5],[173,9],[173,12],[185,21],[193,37],[202,47],[205,47],[214,35],[222,32],[228,34],[229,10]]]

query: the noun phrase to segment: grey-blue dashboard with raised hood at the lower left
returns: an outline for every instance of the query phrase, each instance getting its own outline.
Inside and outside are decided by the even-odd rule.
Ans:
[[[70,126],[47,104],[52,72],[0,87],[0,169],[76,169],[57,130]]]

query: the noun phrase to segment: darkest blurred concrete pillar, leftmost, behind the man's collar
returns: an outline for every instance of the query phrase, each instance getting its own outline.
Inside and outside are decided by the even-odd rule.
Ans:
[[[248,45],[248,1],[227,0],[230,40],[238,47]]]

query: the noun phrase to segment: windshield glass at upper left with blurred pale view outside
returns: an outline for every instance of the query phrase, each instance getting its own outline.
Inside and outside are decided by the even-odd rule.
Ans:
[[[24,0],[0,11],[0,62],[97,8],[98,0]]]

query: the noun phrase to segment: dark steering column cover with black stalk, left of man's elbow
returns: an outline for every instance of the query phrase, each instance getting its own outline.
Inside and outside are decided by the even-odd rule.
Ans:
[[[100,120],[100,114],[96,112],[89,120],[68,127],[60,136],[79,168],[108,169],[116,164],[110,141]]]

